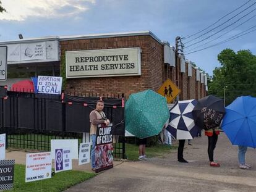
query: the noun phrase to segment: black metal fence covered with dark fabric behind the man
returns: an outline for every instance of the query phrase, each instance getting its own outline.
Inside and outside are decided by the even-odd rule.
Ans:
[[[114,157],[125,158],[123,96],[82,94],[85,98],[3,90],[1,87],[0,133],[7,134],[9,148],[49,151],[52,139],[89,142],[89,115],[96,101],[103,99],[105,114],[114,127]]]

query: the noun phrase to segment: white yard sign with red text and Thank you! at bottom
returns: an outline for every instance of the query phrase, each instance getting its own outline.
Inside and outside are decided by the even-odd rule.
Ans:
[[[27,154],[25,182],[35,182],[46,178],[51,178],[51,152]]]

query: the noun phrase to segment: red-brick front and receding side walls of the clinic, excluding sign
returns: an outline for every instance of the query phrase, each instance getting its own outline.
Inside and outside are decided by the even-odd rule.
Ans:
[[[162,83],[169,78],[181,89],[179,100],[198,99],[205,96],[205,86],[196,81],[195,69],[192,68],[192,77],[187,77],[187,67],[186,73],[180,72],[179,59],[176,67],[164,64],[164,46],[150,35],[66,40],[61,41],[60,44],[61,54],[65,54],[65,51],[135,47],[139,47],[142,51],[141,76],[69,78],[66,93],[77,95],[124,93],[127,98],[131,93],[146,89],[158,91]]]

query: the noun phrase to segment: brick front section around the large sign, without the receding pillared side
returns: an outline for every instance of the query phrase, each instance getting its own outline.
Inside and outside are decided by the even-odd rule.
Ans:
[[[66,92],[122,94],[129,96],[145,89],[157,91],[163,83],[163,46],[149,35],[117,38],[98,38],[91,40],[61,41],[61,54],[65,51],[91,49],[114,49],[140,47],[142,75],[104,78],[67,79]]]

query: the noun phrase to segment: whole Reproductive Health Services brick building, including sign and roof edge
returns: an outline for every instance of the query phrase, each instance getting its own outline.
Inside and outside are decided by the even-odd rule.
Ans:
[[[175,64],[174,48],[169,43],[160,41],[150,31],[35,38],[0,42],[0,46],[12,46],[9,50],[13,51],[17,44],[21,47],[30,44],[33,49],[36,43],[46,47],[46,56],[29,61],[22,61],[20,57],[19,61],[13,61],[10,60],[12,52],[9,52],[9,72],[19,71],[19,67],[22,70],[32,69],[30,76],[35,77],[59,75],[59,71],[63,72],[66,68],[65,91],[79,95],[124,93],[127,97],[146,89],[158,91],[167,78],[181,89],[180,100],[199,99],[207,94],[206,76],[184,58],[177,59]],[[53,50],[47,49],[49,44],[54,48],[51,54],[48,52]],[[26,53],[21,51],[20,54]],[[54,58],[47,57],[49,55]],[[91,68],[87,69],[88,66]],[[40,67],[48,70],[49,74],[38,70]],[[16,78],[20,80],[20,77]],[[13,83],[14,80],[7,77],[8,82]]]

